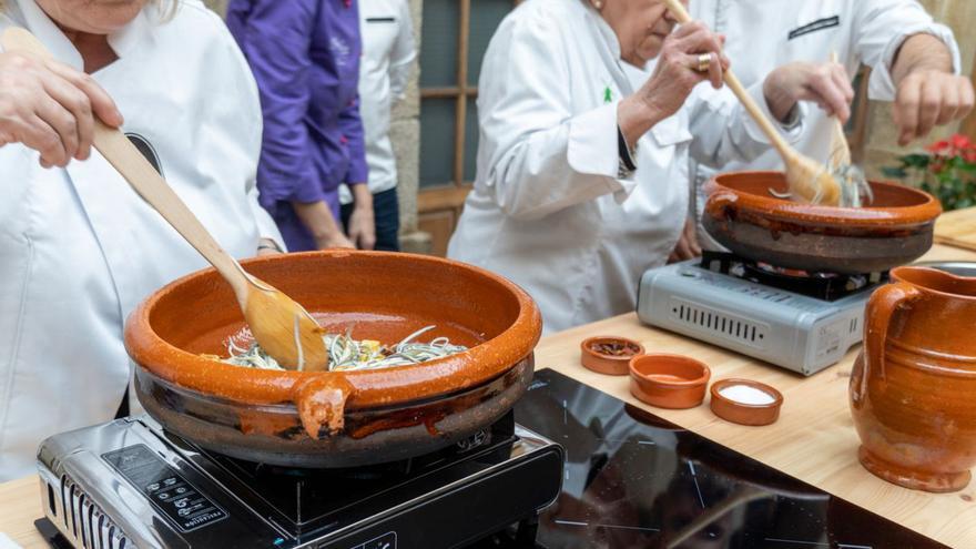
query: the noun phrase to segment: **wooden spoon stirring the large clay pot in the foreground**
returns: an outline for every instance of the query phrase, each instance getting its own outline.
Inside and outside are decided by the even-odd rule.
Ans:
[[[8,29],[0,38],[0,44],[6,51],[51,57],[44,45],[24,29]],[[315,318],[282,292],[247,274],[217,244],[129,138],[95,120],[94,146],[135,192],[227,281],[254,338],[268,355],[289,369],[327,368],[328,353]]]

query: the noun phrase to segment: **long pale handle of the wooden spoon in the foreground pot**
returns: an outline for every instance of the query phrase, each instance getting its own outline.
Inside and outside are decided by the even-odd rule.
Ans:
[[[10,28],[0,37],[6,51],[22,51],[50,59],[51,53],[33,34]],[[173,189],[121,131],[95,120],[94,145],[125,181],[200,252],[233,286],[237,299],[247,295],[247,278],[241,265],[211,236],[206,227],[173,192]],[[243,303],[243,301],[242,301]]]

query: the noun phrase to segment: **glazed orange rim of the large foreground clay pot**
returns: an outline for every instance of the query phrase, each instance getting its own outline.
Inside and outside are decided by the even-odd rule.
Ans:
[[[419,254],[329,250],[253,257],[242,261],[241,264],[254,266],[286,261],[302,262],[322,255],[342,258],[354,254],[367,258],[425,262],[474,272],[510,292],[518,303],[518,315],[505,331],[491,339],[481,342],[464,353],[413,366],[399,366],[386,370],[317,373],[242,368],[203,358],[175,347],[160,337],[150,323],[151,312],[169,292],[195,278],[217,277],[216,271],[210,267],[190,273],[144,299],[125,323],[126,350],[138,367],[146,368],[163,379],[205,395],[252,405],[297,403],[296,394],[307,385],[307,382],[331,378],[352,384],[353,393],[346,409],[364,409],[434,398],[480,385],[505,374],[531,355],[541,337],[541,314],[523,289],[502,276],[457,261]],[[237,305],[234,303],[232,306]],[[472,369],[477,372],[472,373]],[[395,375],[390,375],[393,370],[396,372]],[[215,383],[222,375],[234,378],[236,392]],[[441,383],[431,383],[431,380]],[[206,386],[210,386],[210,389]],[[389,392],[394,386],[396,393],[408,396],[392,397]]]

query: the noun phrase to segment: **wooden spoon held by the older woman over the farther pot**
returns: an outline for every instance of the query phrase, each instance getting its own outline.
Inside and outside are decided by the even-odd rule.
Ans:
[[[664,0],[668,9],[684,24],[692,21],[691,16],[679,0]],[[793,149],[780,132],[773,126],[763,111],[755,104],[742,82],[729,70],[725,71],[725,83],[732,89],[732,93],[739,98],[742,105],[766,134],[770,142],[780,153],[786,165],[786,183],[794,199],[802,202],[817,202],[819,204],[836,206],[841,203],[841,184],[834,179],[827,167],[820,162],[801,154]],[[816,200],[815,200],[816,199]]]

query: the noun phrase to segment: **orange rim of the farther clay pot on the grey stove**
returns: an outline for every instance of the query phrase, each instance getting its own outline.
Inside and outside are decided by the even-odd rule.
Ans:
[[[776,171],[742,171],[718,174],[709,180],[705,192],[709,201],[725,200],[738,209],[758,211],[764,217],[784,222],[844,223],[850,227],[911,226],[934,223],[942,214],[942,204],[931,194],[897,183],[870,180],[872,186],[896,187],[899,192],[922,199],[918,204],[895,207],[838,207],[802,204],[775,196],[762,196],[723,184],[732,177],[784,177]]]

